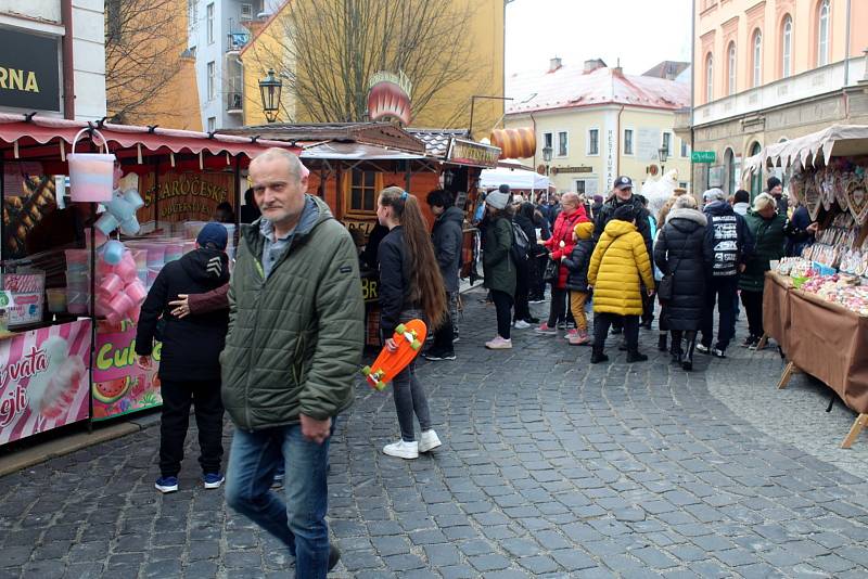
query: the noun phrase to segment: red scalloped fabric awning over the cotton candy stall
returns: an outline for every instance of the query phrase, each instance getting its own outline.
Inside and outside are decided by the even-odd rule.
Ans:
[[[282,141],[248,137],[0,113],[0,155],[7,160],[62,157],[69,152],[66,145],[72,145],[76,133],[86,128],[97,128],[112,152],[128,150],[123,156],[135,156],[141,147],[145,153],[206,152],[252,158],[272,146],[290,147]],[[58,147],[60,143],[64,143],[63,153]]]

